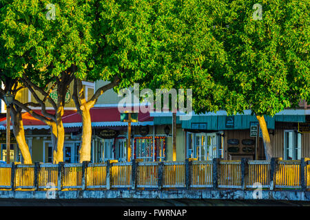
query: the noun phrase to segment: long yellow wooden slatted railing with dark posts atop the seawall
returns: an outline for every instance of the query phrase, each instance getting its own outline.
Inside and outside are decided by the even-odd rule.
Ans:
[[[272,186],[301,188],[300,167],[304,166],[301,161],[279,160],[277,163],[274,167]],[[136,162],[134,168],[132,162],[61,166],[59,164],[37,164],[36,166],[17,164],[12,167],[14,169],[10,164],[0,165],[0,188],[11,188],[12,176],[14,188],[17,190],[23,188],[40,190],[49,188],[208,188],[214,186],[214,169],[218,172],[216,175],[218,188],[256,188],[258,185],[265,188],[271,187],[271,162],[263,160]],[[59,170],[59,168],[62,169]],[[135,179],[132,179],[133,177]],[[303,186],[310,188],[310,165],[304,167],[304,182],[306,186]]]

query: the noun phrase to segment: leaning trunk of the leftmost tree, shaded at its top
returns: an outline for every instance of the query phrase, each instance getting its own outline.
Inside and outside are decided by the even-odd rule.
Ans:
[[[12,112],[12,111],[11,111]],[[16,111],[11,114],[13,133],[16,137],[17,144],[21,150],[24,164],[32,164],[32,159],[29,151],[28,144],[25,140],[25,131],[23,129],[23,120],[21,118],[21,111]]]

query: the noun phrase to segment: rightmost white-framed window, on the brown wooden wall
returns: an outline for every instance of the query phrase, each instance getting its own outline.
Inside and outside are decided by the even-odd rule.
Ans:
[[[301,159],[301,133],[285,131],[285,159]]]

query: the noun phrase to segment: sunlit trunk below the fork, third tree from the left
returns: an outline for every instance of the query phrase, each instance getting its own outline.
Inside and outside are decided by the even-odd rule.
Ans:
[[[85,107],[85,105],[81,106],[81,116],[83,130],[82,143],[79,150],[80,163],[82,163],[83,161],[90,161],[90,152],[92,149],[92,120],[90,118],[90,109],[88,107]]]

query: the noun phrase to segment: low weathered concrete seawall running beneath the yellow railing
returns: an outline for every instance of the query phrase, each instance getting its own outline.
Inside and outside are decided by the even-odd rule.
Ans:
[[[255,199],[253,190],[0,191],[0,199]],[[54,194],[53,194],[54,193]],[[310,201],[310,191],[262,190],[260,199]]]

